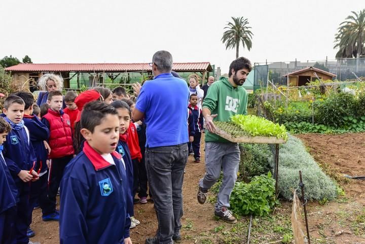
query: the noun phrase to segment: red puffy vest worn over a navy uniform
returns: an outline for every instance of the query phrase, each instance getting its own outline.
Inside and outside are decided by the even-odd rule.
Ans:
[[[49,124],[50,137],[48,144],[51,147],[49,158],[61,158],[75,153],[72,143],[71,123],[69,116],[62,110],[55,112],[51,109],[43,116],[42,121]],[[47,125],[47,122],[45,123]]]

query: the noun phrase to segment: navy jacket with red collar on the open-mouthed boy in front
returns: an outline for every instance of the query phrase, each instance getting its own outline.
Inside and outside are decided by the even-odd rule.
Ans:
[[[120,244],[129,237],[127,180],[120,155],[115,165],[87,142],[66,166],[61,181],[60,243]]]

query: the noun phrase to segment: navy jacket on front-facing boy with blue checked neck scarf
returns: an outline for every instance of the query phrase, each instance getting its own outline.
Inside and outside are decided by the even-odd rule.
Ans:
[[[4,143],[3,151],[5,162],[15,183],[22,182],[18,177],[20,170],[30,170],[33,162],[36,162],[26,127],[24,126],[20,130],[12,128],[6,138],[7,141]]]

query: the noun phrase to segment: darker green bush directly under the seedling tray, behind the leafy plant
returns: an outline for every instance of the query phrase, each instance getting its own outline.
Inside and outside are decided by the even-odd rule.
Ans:
[[[269,162],[271,153],[267,144],[240,144],[240,151],[238,181],[249,182],[252,177],[271,170]]]

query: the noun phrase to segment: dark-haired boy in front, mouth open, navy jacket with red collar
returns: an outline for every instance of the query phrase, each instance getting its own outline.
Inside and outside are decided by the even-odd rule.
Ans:
[[[118,112],[101,101],[90,102],[82,111],[81,126],[86,142],[66,166],[61,182],[60,243],[132,244],[128,181],[115,151]]]

